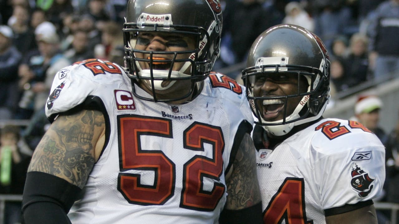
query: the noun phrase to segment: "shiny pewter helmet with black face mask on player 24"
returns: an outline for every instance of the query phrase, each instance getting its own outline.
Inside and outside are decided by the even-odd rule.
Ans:
[[[305,77],[308,89],[286,96],[253,96],[255,80],[268,75],[291,74]],[[303,78],[302,78],[303,79]],[[330,98],[330,60],[326,47],[319,37],[305,28],[280,24],[264,31],[253,43],[243,71],[243,81],[248,100],[257,118],[257,124],[275,136],[283,136],[294,126],[320,118]],[[299,84],[298,84],[299,85]],[[288,98],[301,97],[290,114]],[[269,100],[269,101],[264,101]],[[266,121],[263,102],[283,102],[283,118]]]

